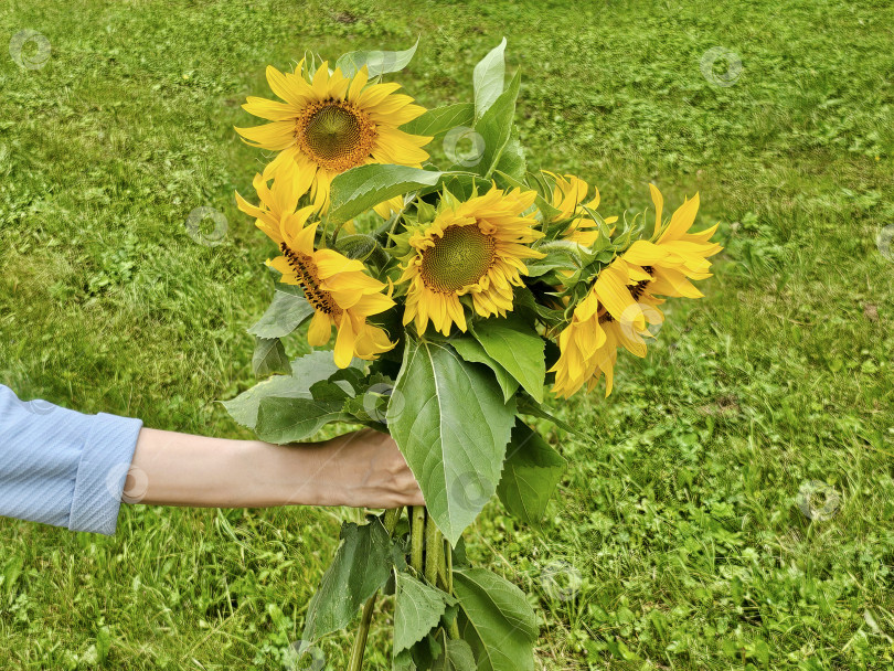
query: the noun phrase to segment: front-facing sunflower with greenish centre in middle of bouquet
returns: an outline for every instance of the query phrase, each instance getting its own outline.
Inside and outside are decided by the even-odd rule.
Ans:
[[[512,287],[526,275],[525,258],[542,258],[529,245],[535,231],[533,213],[523,214],[535,193],[493,188],[466,202],[443,204],[434,221],[409,237],[400,283],[409,283],[404,324],[415,319],[424,333],[428,320],[449,336],[450,326],[466,330],[460,296],[470,295],[481,317],[512,310]]]

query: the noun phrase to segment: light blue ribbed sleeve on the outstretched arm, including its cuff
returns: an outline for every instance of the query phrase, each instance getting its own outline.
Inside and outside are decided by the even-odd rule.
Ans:
[[[24,403],[0,384],[0,515],[114,534],[141,427]]]

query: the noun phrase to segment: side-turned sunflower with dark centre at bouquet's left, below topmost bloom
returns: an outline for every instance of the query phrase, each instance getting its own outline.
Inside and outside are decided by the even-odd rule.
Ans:
[[[394,347],[384,329],[366,323],[368,317],[384,312],[394,301],[359,260],[313,248],[317,222],[305,225],[313,211],[311,205],[283,216],[278,233],[283,256],[267,265],[283,274],[280,281],[300,286],[313,306],[307,334],[312,347],[328,343],[332,327],[337,328],[336,364],[343,369],[353,356],[374,359]]]

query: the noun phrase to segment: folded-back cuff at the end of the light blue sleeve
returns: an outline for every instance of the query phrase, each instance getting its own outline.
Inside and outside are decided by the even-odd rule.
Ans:
[[[99,413],[77,466],[68,529],[113,535],[142,422]]]

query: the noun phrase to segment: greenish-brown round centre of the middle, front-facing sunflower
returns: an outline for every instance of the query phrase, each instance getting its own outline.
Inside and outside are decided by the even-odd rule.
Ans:
[[[429,289],[445,294],[477,284],[497,255],[497,241],[475,224],[449,226],[434,242],[423,252],[422,278]]]

